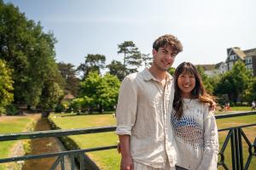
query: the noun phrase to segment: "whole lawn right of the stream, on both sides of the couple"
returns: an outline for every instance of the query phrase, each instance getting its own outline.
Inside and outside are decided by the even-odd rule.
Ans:
[[[236,107],[236,111],[241,111],[239,109],[240,108]],[[113,118],[111,114],[86,115],[86,116],[85,115],[74,116],[74,115],[66,115],[66,114],[51,114],[49,118],[52,119],[52,121],[55,122],[55,124],[61,127],[62,129],[81,128],[81,127],[100,127],[100,126],[115,125],[116,123],[115,118]],[[256,122],[256,115],[240,116],[240,117],[217,120],[218,128],[235,127],[241,124],[248,124],[253,122],[254,123]],[[247,134],[250,141],[253,142],[253,139],[256,136],[256,127],[247,127],[245,128],[244,132]],[[220,148],[224,143],[226,134],[227,132],[219,133]],[[118,140],[118,137],[113,132],[76,135],[76,136],[70,136],[70,138],[72,138],[83,149],[116,144]],[[247,151],[247,146],[244,145],[243,147],[244,147],[244,151]],[[228,155],[230,154],[230,144],[228,144],[228,148],[224,153],[226,157],[225,162],[227,166],[230,167],[231,157],[230,155]],[[96,164],[103,170],[119,169],[120,156],[116,150],[90,152],[88,155],[94,161],[96,161]],[[245,154],[244,157],[247,157],[247,155]],[[256,167],[255,156],[253,157],[252,164],[250,165],[249,169],[253,169],[253,167]],[[224,168],[219,167],[218,169],[224,169]]]

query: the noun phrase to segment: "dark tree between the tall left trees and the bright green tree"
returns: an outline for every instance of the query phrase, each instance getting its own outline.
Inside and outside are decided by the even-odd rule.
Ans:
[[[74,69],[74,65],[60,62],[58,63],[58,69],[61,71],[61,76],[65,80],[64,94],[73,94],[73,96],[77,96],[79,89],[79,78],[76,77],[77,71]]]

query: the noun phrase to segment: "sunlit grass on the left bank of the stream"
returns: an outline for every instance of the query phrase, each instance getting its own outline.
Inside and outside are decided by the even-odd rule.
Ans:
[[[0,133],[19,133],[27,131],[34,122],[35,116],[0,116]],[[0,142],[0,158],[9,156],[16,140]],[[6,169],[6,164],[0,164],[0,170]]]

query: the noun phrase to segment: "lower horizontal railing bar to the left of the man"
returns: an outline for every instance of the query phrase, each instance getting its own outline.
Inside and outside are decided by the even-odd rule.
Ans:
[[[9,162],[9,161],[24,161],[29,159],[40,159],[40,158],[55,157],[55,156],[68,156],[68,155],[81,154],[84,152],[91,152],[91,151],[111,150],[115,148],[117,148],[117,145],[90,148],[90,149],[84,149],[84,150],[67,150],[62,152],[55,152],[55,153],[41,154],[41,155],[17,156],[17,157],[0,159],[0,163]]]

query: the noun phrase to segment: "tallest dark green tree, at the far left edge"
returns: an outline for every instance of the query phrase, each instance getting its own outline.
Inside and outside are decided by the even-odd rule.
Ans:
[[[0,57],[6,60],[9,68],[13,69],[14,80],[14,94],[15,101],[21,103],[25,100],[25,95],[22,90],[26,89],[25,82],[26,69],[28,68],[28,61],[23,48],[27,47],[26,39],[30,39],[28,30],[32,27],[33,22],[27,21],[24,14],[20,14],[19,9],[14,5],[5,5],[0,1]],[[27,28],[27,29],[26,29]]]

